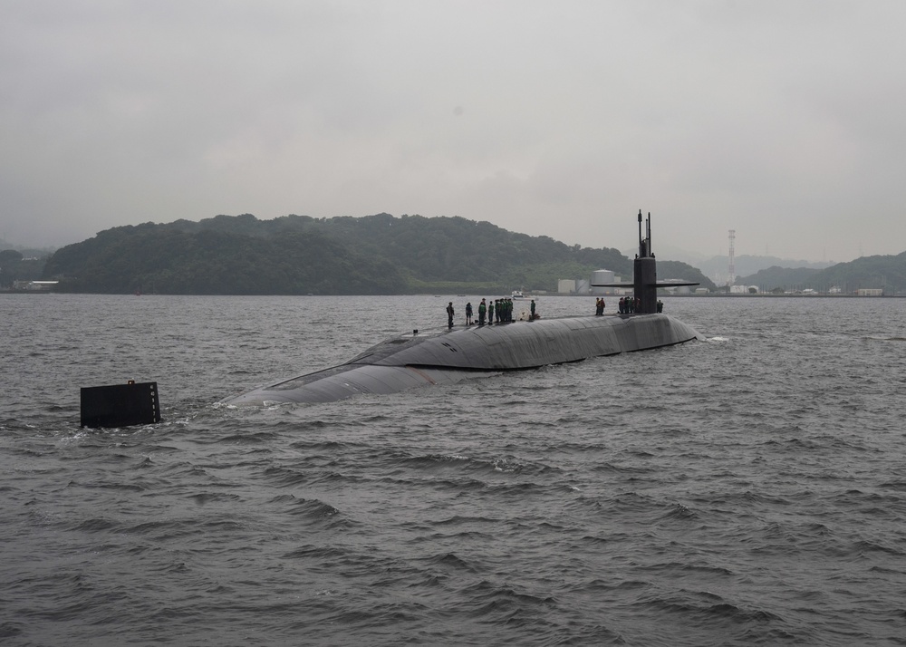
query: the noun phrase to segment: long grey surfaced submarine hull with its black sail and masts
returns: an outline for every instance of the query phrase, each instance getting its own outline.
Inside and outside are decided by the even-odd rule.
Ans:
[[[359,393],[397,393],[425,384],[451,384],[494,372],[522,371],[590,357],[646,351],[701,338],[691,326],[657,312],[659,284],[651,253],[651,214],[633,264],[634,314],[572,316],[413,331],[391,337],[349,362],[246,391],[223,402],[266,406],[332,402]],[[593,284],[620,287],[625,284]]]

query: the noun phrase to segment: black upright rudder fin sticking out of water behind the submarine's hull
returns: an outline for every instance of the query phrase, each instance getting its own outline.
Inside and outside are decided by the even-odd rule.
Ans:
[[[129,427],[159,421],[156,381],[82,387],[82,427]]]

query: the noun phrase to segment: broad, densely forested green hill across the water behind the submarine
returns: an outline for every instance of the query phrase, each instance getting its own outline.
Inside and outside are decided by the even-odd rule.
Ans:
[[[559,278],[610,269],[631,277],[616,249],[568,246],[462,217],[258,220],[114,227],[59,249],[45,278],[63,290],[195,295],[390,295],[554,290]],[[708,279],[696,275],[689,280]]]

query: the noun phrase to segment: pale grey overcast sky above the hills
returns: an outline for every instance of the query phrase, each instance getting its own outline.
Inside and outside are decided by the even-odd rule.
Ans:
[[[656,253],[899,254],[904,30],[902,0],[4,0],[0,237],[388,212],[624,249],[641,208]]]

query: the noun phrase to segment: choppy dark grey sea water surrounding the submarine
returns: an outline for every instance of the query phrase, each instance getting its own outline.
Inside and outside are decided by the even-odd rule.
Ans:
[[[906,644],[906,300],[667,298],[705,341],[217,403],[447,301],[0,295],[0,643]],[[164,420],[82,430],[129,379]]]

